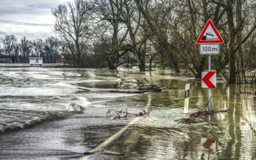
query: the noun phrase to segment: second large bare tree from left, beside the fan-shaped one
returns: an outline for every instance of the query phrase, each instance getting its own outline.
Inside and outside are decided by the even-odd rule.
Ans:
[[[122,10],[116,7],[118,3],[113,0],[94,0],[93,4],[96,18],[100,18],[93,31],[100,41],[100,45],[96,45],[96,51],[103,53],[107,58],[109,69],[117,69],[119,65],[127,62],[120,59],[132,49],[125,41],[128,35],[127,28],[116,18]]]

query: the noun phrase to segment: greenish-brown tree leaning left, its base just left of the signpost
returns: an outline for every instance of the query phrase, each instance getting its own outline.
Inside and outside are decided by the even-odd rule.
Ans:
[[[168,15],[172,14],[175,1],[143,1],[135,0],[137,7],[144,19],[147,21],[149,34],[156,43],[156,51],[160,54],[161,63],[167,59],[175,72],[179,73],[178,59],[173,52],[172,45],[168,40]],[[153,5],[149,5],[153,4]],[[179,5],[179,3],[177,2]]]

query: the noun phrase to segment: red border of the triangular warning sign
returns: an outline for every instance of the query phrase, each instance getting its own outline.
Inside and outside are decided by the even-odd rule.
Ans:
[[[203,35],[204,35],[204,32],[206,32],[209,25],[211,25],[212,29],[214,30],[216,36],[218,36],[219,40],[201,40]],[[203,31],[200,33],[198,39],[196,40],[196,44],[205,44],[205,43],[224,43],[224,40],[220,36],[218,30],[216,29],[216,27],[212,23],[211,19],[209,19],[207,21],[206,25],[203,28]]]

